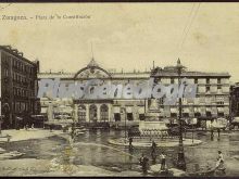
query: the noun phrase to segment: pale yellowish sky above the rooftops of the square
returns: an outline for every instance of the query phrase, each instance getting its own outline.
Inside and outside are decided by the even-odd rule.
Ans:
[[[0,3],[0,43],[38,59],[41,72],[76,73],[92,55],[101,67],[118,72],[149,71],[153,61],[155,66],[175,65],[180,57],[189,71],[228,72],[236,82],[238,10],[237,2]]]

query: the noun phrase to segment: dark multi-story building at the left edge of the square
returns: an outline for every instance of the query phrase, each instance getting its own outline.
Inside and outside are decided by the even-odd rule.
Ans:
[[[0,71],[2,126],[16,128],[39,111],[39,62],[27,60],[10,46],[0,46]]]

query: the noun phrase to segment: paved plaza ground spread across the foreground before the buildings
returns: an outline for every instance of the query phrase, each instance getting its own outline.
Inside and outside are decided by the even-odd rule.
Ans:
[[[142,176],[138,163],[141,153],[150,158],[150,165],[152,165],[149,148],[135,149],[129,152],[128,148],[108,142],[115,137],[124,138],[124,131],[86,131],[76,139],[72,150],[70,150],[67,133],[62,131],[9,130],[3,131],[3,135],[7,132],[12,132],[12,135],[20,132],[22,135],[21,137],[13,137],[14,141],[10,142],[9,145],[0,143],[0,148],[5,152],[18,151],[24,155],[12,159],[0,158],[0,174],[5,176]],[[186,135],[189,142],[191,135],[190,132]],[[217,150],[221,150],[225,156],[226,176],[239,176],[237,167],[239,162],[239,132],[222,132],[219,140],[217,140],[217,133],[214,135],[212,141],[210,132],[194,133],[194,139],[202,141],[202,143],[196,146],[185,146],[187,172],[201,171],[207,166],[214,167]],[[175,168],[177,146],[159,146],[158,154],[162,151],[166,153],[168,168]],[[159,163],[160,158],[158,157],[156,164]],[[51,167],[48,167],[48,164]],[[33,166],[37,168],[37,171],[32,168]],[[68,170],[67,167],[72,167],[74,172],[70,172],[71,169]]]

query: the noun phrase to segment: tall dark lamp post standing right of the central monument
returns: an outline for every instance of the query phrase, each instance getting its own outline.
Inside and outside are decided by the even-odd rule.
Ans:
[[[178,87],[181,84],[181,69],[184,66],[180,64],[180,60],[177,60],[177,73],[178,73]],[[178,122],[179,122],[179,145],[178,145],[178,158],[177,158],[177,167],[179,169],[186,170],[186,162],[185,162],[185,152],[184,152],[184,142],[183,142],[183,129],[181,129],[181,98],[178,100]]]

